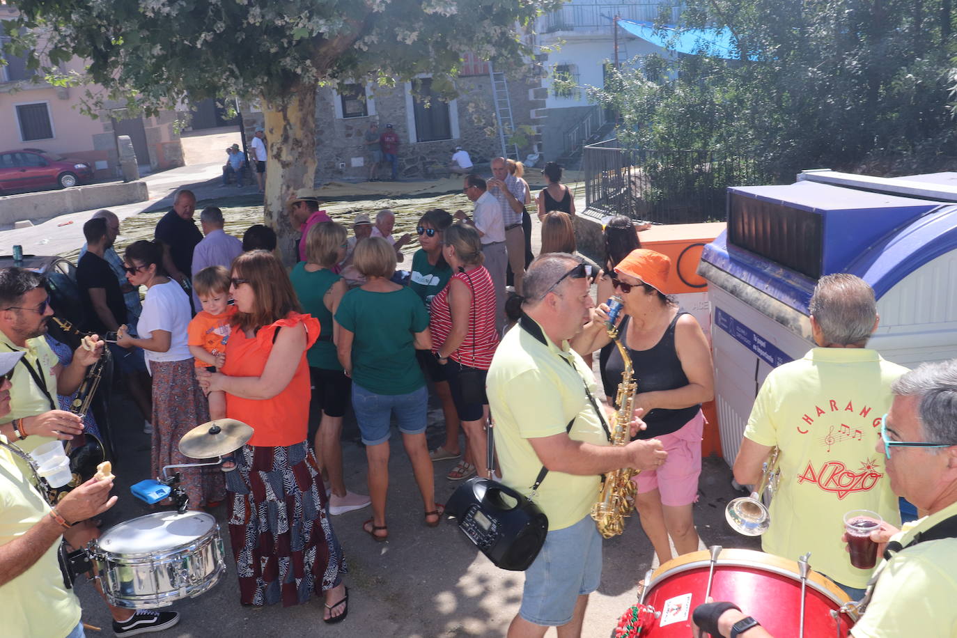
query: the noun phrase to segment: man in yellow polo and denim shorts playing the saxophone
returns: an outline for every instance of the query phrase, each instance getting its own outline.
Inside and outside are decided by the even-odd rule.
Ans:
[[[523,317],[488,371],[502,482],[530,495],[542,467],[548,470],[532,496],[548,517],[548,535],[525,572],[509,638],[541,637],[548,627],[561,627],[566,638],[581,634],[589,594],[601,579],[601,537],[590,517],[600,474],[652,470],[667,456],[654,439],[609,445],[593,375],[568,346],[590,319],[590,275],[567,253],[533,261],[523,279]],[[643,426],[636,416],[633,433]]]

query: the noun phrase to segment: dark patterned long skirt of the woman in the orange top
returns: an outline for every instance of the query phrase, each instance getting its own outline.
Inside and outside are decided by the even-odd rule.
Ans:
[[[300,605],[342,582],[343,549],[325,512],[325,488],[306,442],[243,446],[226,473],[230,539],[243,605]]]

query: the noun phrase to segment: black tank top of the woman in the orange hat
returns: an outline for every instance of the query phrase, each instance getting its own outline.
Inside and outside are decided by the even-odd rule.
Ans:
[[[664,331],[661,339],[648,350],[633,350],[628,347],[625,336],[628,334],[628,320],[631,317],[625,315],[625,319],[622,319],[620,339],[632,358],[634,382],[638,386],[639,394],[657,390],[674,390],[688,385],[688,378],[681,369],[678,350],[675,348],[675,324],[678,323],[681,315],[687,314],[679,312],[675,315],[675,319],[668,324],[668,329]],[[618,384],[621,383],[621,373],[625,371],[625,363],[621,361],[621,353],[618,352],[614,343],[609,343],[602,348],[598,362],[601,367],[602,384],[605,385],[605,394],[613,400],[618,393]],[[634,438],[653,439],[662,434],[678,431],[698,414],[699,409],[701,404],[680,409],[657,407],[641,417],[648,424],[648,428],[638,432]]]

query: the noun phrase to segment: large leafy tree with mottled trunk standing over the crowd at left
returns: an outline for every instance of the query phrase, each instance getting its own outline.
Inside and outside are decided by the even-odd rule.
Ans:
[[[288,235],[283,203],[315,175],[315,92],[418,74],[451,97],[463,53],[519,64],[521,33],[561,0],[8,0],[5,25],[56,72],[74,55],[106,89],[147,113],[181,99],[262,99],[269,140],[266,218]],[[60,81],[64,81],[62,78]]]

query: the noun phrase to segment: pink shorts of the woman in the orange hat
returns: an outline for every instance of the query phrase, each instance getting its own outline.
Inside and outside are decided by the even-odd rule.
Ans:
[[[661,504],[670,507],[697,502],[703,432],[704,414],[698,410],[678,431],[656,437],[668,452],[668,458],[657,470],[646,470],[632,478],[638,494],[657,489],[661,493]]]

